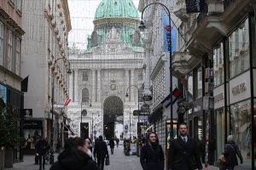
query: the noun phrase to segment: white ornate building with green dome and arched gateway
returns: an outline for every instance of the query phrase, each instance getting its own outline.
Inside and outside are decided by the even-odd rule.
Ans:
[[[96,9],[87,49],[70,51],[73,101],[68,116],[76,135],[107,139],[137,135],[138,117],[132,111],[138,108],[143,84],[143,47],[137,26],[138,12],[131,0],[104,0]]]

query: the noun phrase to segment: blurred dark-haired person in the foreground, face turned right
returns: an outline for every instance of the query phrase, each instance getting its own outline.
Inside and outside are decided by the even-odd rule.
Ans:
[[[99,170],[96,162],[90,159],[89,144],[83,138],[67,139],[64,150],[49,170]]]

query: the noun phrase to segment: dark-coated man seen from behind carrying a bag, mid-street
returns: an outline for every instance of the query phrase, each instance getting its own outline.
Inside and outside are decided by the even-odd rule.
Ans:
[[[103,170],[105,158],[108,156],[108,146],[106,142],[103,141],[102,135],[99,136],[99,139],[96,141],[93,156],[97,158],[98,167]]]

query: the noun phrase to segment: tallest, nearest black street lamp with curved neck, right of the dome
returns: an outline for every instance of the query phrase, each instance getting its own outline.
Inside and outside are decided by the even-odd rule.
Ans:
[[[166,11],[166,13],[168,13],[168,17],[169,17],[169,25],[171,27],[171,13],[169,11],[169,9],[166,7],[166,5],[162,4],[162,3],[149,3],[145,8],[143,8],[143,12],[146,8],[148,8],[150,5],[155,5],[158,4],[160,5],[162,8],[164,8],[164,10]],[[138,26],[138,28],[140,29],[140,31],[144,31],[146,29],[146,26],[144,26],[144,22],[143,22],[143,12],[142,12],[142,20],[140,23],[140,26]],[[172,29],[168,29],[169,31],[169,38],[170,41],[168,41],[168,46],[169,46],[169,50],[170,50],[170,92],[172,94]],[[173,139],[173,115],[172,115],[172,97],[170,99],[171,102],[171,139]]]

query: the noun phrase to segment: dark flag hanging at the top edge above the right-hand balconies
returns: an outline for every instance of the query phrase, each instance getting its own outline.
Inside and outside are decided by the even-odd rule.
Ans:
[[[204,5],[204,0],[186,0],[187,13],[200,13]]]

